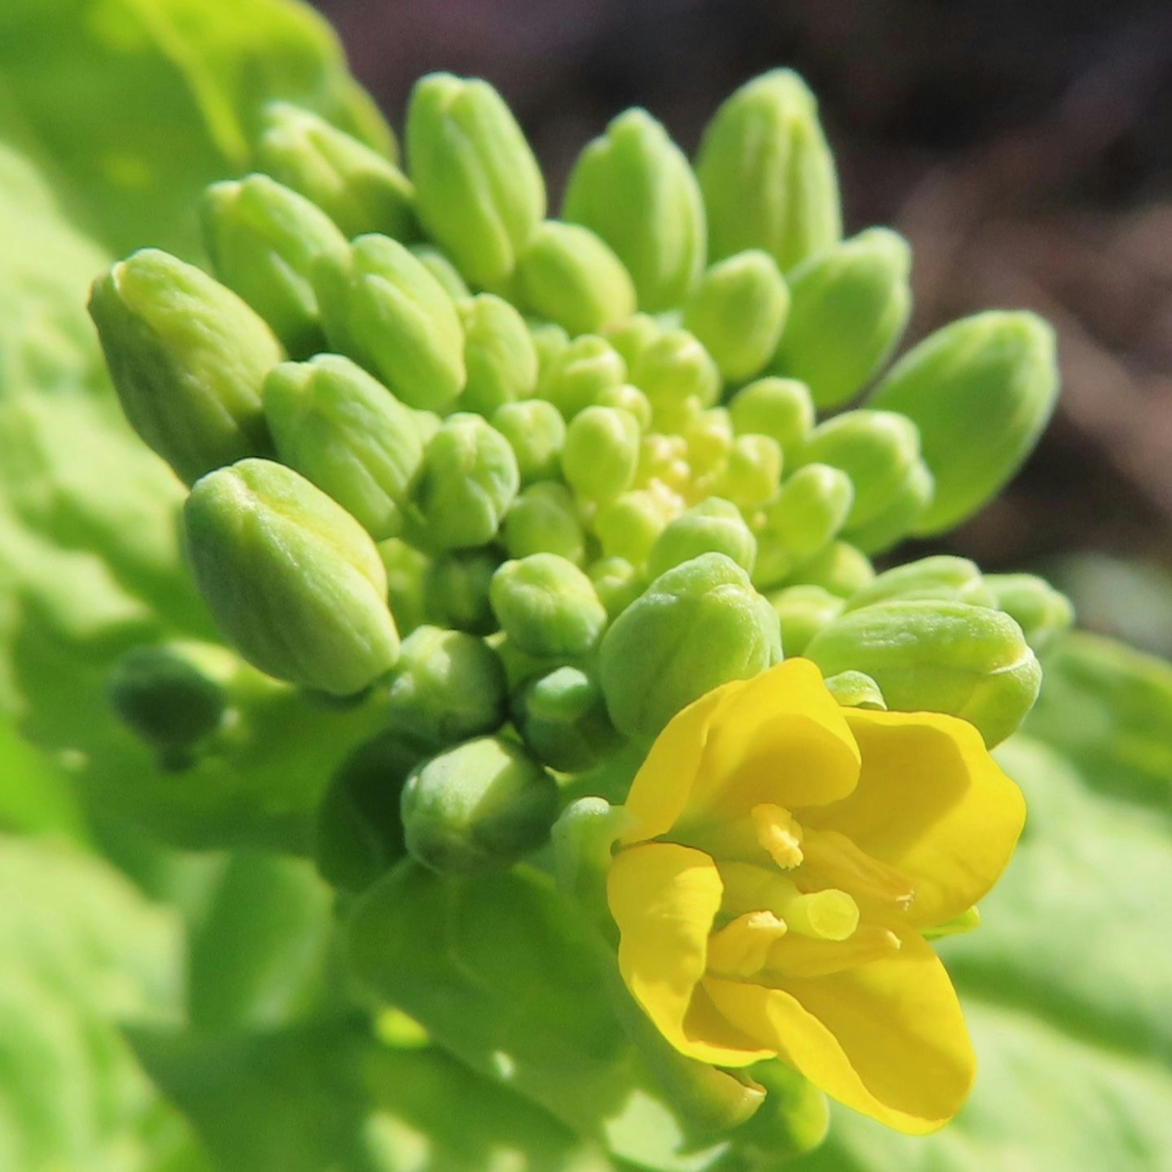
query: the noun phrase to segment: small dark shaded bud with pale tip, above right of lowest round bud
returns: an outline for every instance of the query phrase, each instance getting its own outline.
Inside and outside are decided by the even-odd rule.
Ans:
[[[619,745],[598,681],[575,667],[530,680],[512,701],[513,724],[543,764],[577,774]]]

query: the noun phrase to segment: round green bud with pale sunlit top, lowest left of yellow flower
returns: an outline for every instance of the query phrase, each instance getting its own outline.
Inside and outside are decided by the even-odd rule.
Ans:
[[[541,846],[558,786],[520,745],[482,737],[423,762],[402,799],[407,849],[442,874],[503,868]]]

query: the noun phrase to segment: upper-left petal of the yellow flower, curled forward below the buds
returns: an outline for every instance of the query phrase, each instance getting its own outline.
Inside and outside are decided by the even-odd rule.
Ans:
[[[785,660],[722,696],[682,820],[837,802],[858,776],[858,747],[822,674]]]

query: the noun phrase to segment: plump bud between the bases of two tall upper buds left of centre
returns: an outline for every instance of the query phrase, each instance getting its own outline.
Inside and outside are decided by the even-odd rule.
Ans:
[[[609,246],[580,224],[546,220],[517,259],[517,292],[571,335],[595,333],[635,309],[635,288]]]

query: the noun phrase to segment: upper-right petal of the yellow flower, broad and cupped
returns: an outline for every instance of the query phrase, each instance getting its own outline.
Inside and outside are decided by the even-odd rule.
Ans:
[[[907,874],[915,898],[904,919],[931,926],[972,907],[1009,863],[1026,819],[1021,790],[967,721],[936,713],[846,709],[863,751],[856,790],[802,811]]]

